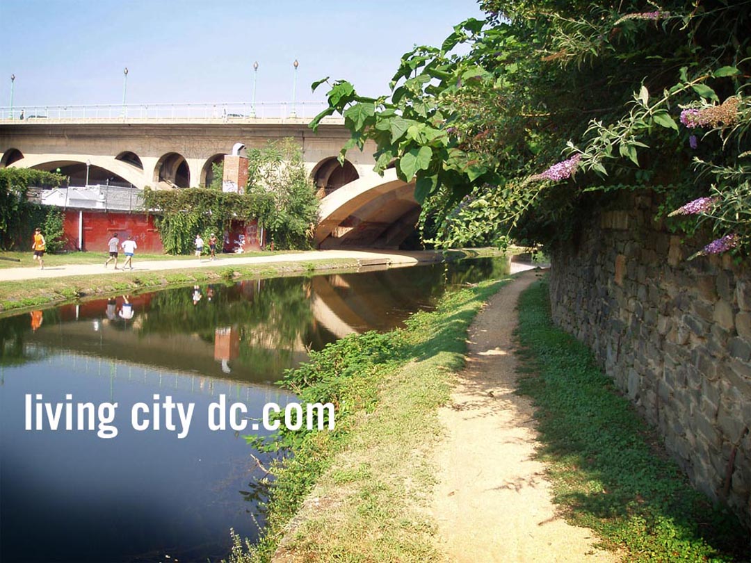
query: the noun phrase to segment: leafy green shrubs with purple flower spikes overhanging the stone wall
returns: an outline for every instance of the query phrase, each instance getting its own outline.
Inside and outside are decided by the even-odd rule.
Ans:
[[[566,240],[585,191],[650,188],[699,217],[672,228],[718,237],[699,254],[749,245],[751,2],[480,3],[486,22],[403,56],[390,95],[336,80],[317,118],[344,116],[342,155],[373,140],[376,170],[415,180],[425,238]]]

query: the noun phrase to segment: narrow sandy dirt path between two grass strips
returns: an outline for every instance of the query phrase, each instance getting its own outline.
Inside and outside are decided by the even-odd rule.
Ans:
[[[448,561],[617,561],[593,549],[590,530],[556,516],[544,465],[532,459],[532,407],[514,395],[511,335],[519,294],[534,280],[521,275],[475,319],[467,367],[439,411],[448,435],[433,512]]]

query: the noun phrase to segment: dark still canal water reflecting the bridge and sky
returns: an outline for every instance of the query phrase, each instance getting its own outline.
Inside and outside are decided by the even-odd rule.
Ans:
[[[0,319],[0,561],[227,557],[230,528],[264,525],[251,454],[270,460],[217,405],[283,408],[295,398],[274,381],[309,349],[507,272],[475,259],[247,280]]]

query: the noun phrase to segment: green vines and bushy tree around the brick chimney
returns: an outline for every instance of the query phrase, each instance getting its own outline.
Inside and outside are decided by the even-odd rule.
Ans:
[[[210,188],[144,190],[143,206],[156,215],[164,250],[190,254],[198,233],[222,238],[233,221],[258,221],[277,249],[309,248],[318,200],[308,179],[300,146],[291,139],[251,149],[244,194],[221,190],[222,166],[213,168]],[[219,189],[218,189],[219,187]]]

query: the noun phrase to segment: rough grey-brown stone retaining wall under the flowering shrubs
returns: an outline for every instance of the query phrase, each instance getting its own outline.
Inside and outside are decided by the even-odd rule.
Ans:
[[[698,257],[624,194],[553,248],[553,320],[585,342],[692,483],[751,527],[751,268]]]

